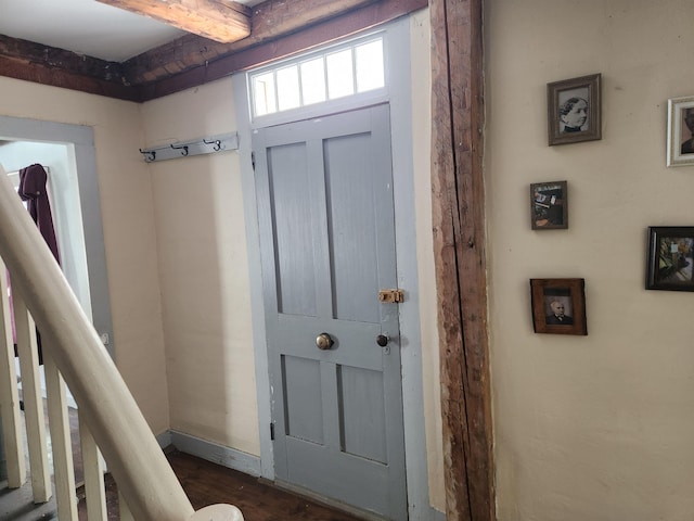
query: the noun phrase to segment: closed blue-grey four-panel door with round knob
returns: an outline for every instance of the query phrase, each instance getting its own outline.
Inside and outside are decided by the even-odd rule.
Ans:
[[[253,149],[277,478],[406,520],[398,304],[378,301],[397,287],[388,105]]]

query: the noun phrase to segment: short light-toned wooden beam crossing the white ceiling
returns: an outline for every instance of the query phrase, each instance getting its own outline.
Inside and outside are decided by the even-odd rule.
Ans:
[[[210,40],[231,43],[250,34],[250,10],[231,0],[97,0]]]

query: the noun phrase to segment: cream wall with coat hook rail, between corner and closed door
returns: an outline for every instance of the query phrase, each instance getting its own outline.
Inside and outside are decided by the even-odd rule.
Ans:
[[[141,109],[147,147],[231,132],[231,79]],[[260,454],[239,155],[150,165],[171,429]]]

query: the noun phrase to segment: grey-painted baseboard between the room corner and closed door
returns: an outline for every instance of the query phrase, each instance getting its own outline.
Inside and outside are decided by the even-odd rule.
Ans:
[[[255,478],[260,475],[260,458],[258,456],[174,430],[159,434],[157,441],[159,441],[160,446],[172,445],[181,453],[197,456],[213,463],[221,465]],[[169,443],[162,445],[162,442],[167,441]]]

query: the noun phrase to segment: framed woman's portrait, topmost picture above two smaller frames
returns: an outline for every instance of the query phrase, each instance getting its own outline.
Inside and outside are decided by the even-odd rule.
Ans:
[[[601,75],[547,85],[550,147],[602,139]]]

